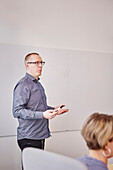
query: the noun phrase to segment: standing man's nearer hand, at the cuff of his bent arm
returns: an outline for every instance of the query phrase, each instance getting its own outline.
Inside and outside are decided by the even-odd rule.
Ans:
[[[55,112],[55,110],[46,110],[45,112],[43,112],[43,118],[46,119],[52,119],[57,115],[57,112]]]

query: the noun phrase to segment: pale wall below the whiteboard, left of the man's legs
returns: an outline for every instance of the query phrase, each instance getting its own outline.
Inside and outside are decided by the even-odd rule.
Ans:
[[[0,170],[21,170],[20,157],[16,136],[0,137]]]

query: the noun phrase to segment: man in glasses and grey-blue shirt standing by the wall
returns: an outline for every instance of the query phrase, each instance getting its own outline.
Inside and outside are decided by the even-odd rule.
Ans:
[[[49,121],[68,109],[47,105],[44,88],[39,82],[45,62],[38,53],[25,57],[26,75],[15,86],[13,115],[18,118],[17,141],[21,150],[26,147],[44,149],[45,139],[50,137]]]

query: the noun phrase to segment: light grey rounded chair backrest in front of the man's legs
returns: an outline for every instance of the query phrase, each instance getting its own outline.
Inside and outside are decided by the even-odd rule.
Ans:
[[[87,170],[75,159],[36,148],[25,148],[22,160],[24,170]]]

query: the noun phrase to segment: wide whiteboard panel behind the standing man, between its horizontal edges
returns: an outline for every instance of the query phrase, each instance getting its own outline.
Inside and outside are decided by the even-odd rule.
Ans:
[[[25,55],[34,51],[46,62],[40,81],[48,104],[69,108],[68,113],[50,120],[52,132],[79,130],[95,111],[113,112],[112,53],[0,44],[0,136],[16,135],[13,88],[25,75]]]

